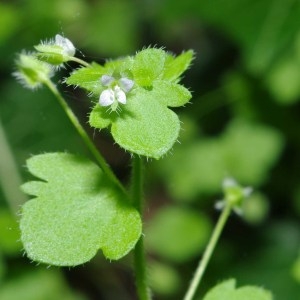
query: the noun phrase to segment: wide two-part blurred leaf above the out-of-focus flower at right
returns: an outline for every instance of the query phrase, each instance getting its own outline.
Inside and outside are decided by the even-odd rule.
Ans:
[[[176,199],[215,193],[225,176],[258,186],[268,176],[283,146],[281,134],[256,123],[235,120],[219,138],[203,138],[176,147],[157,166]]]

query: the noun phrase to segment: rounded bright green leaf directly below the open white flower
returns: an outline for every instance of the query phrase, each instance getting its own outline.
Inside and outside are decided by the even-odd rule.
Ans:
[[[180,122],[173,111],[157,101],[157,93],[155,88],[136,89],[122,116],[112,123],[111,133],[124,149],[159,159],[177,140]]]

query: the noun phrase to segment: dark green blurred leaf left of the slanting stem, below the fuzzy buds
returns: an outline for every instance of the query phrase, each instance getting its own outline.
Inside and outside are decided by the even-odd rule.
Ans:
[[[71,122],[46,89],[32,92],[16,82],[7,82],[1,97],[0,117],[19,166],[41,149],[86,153]]]

